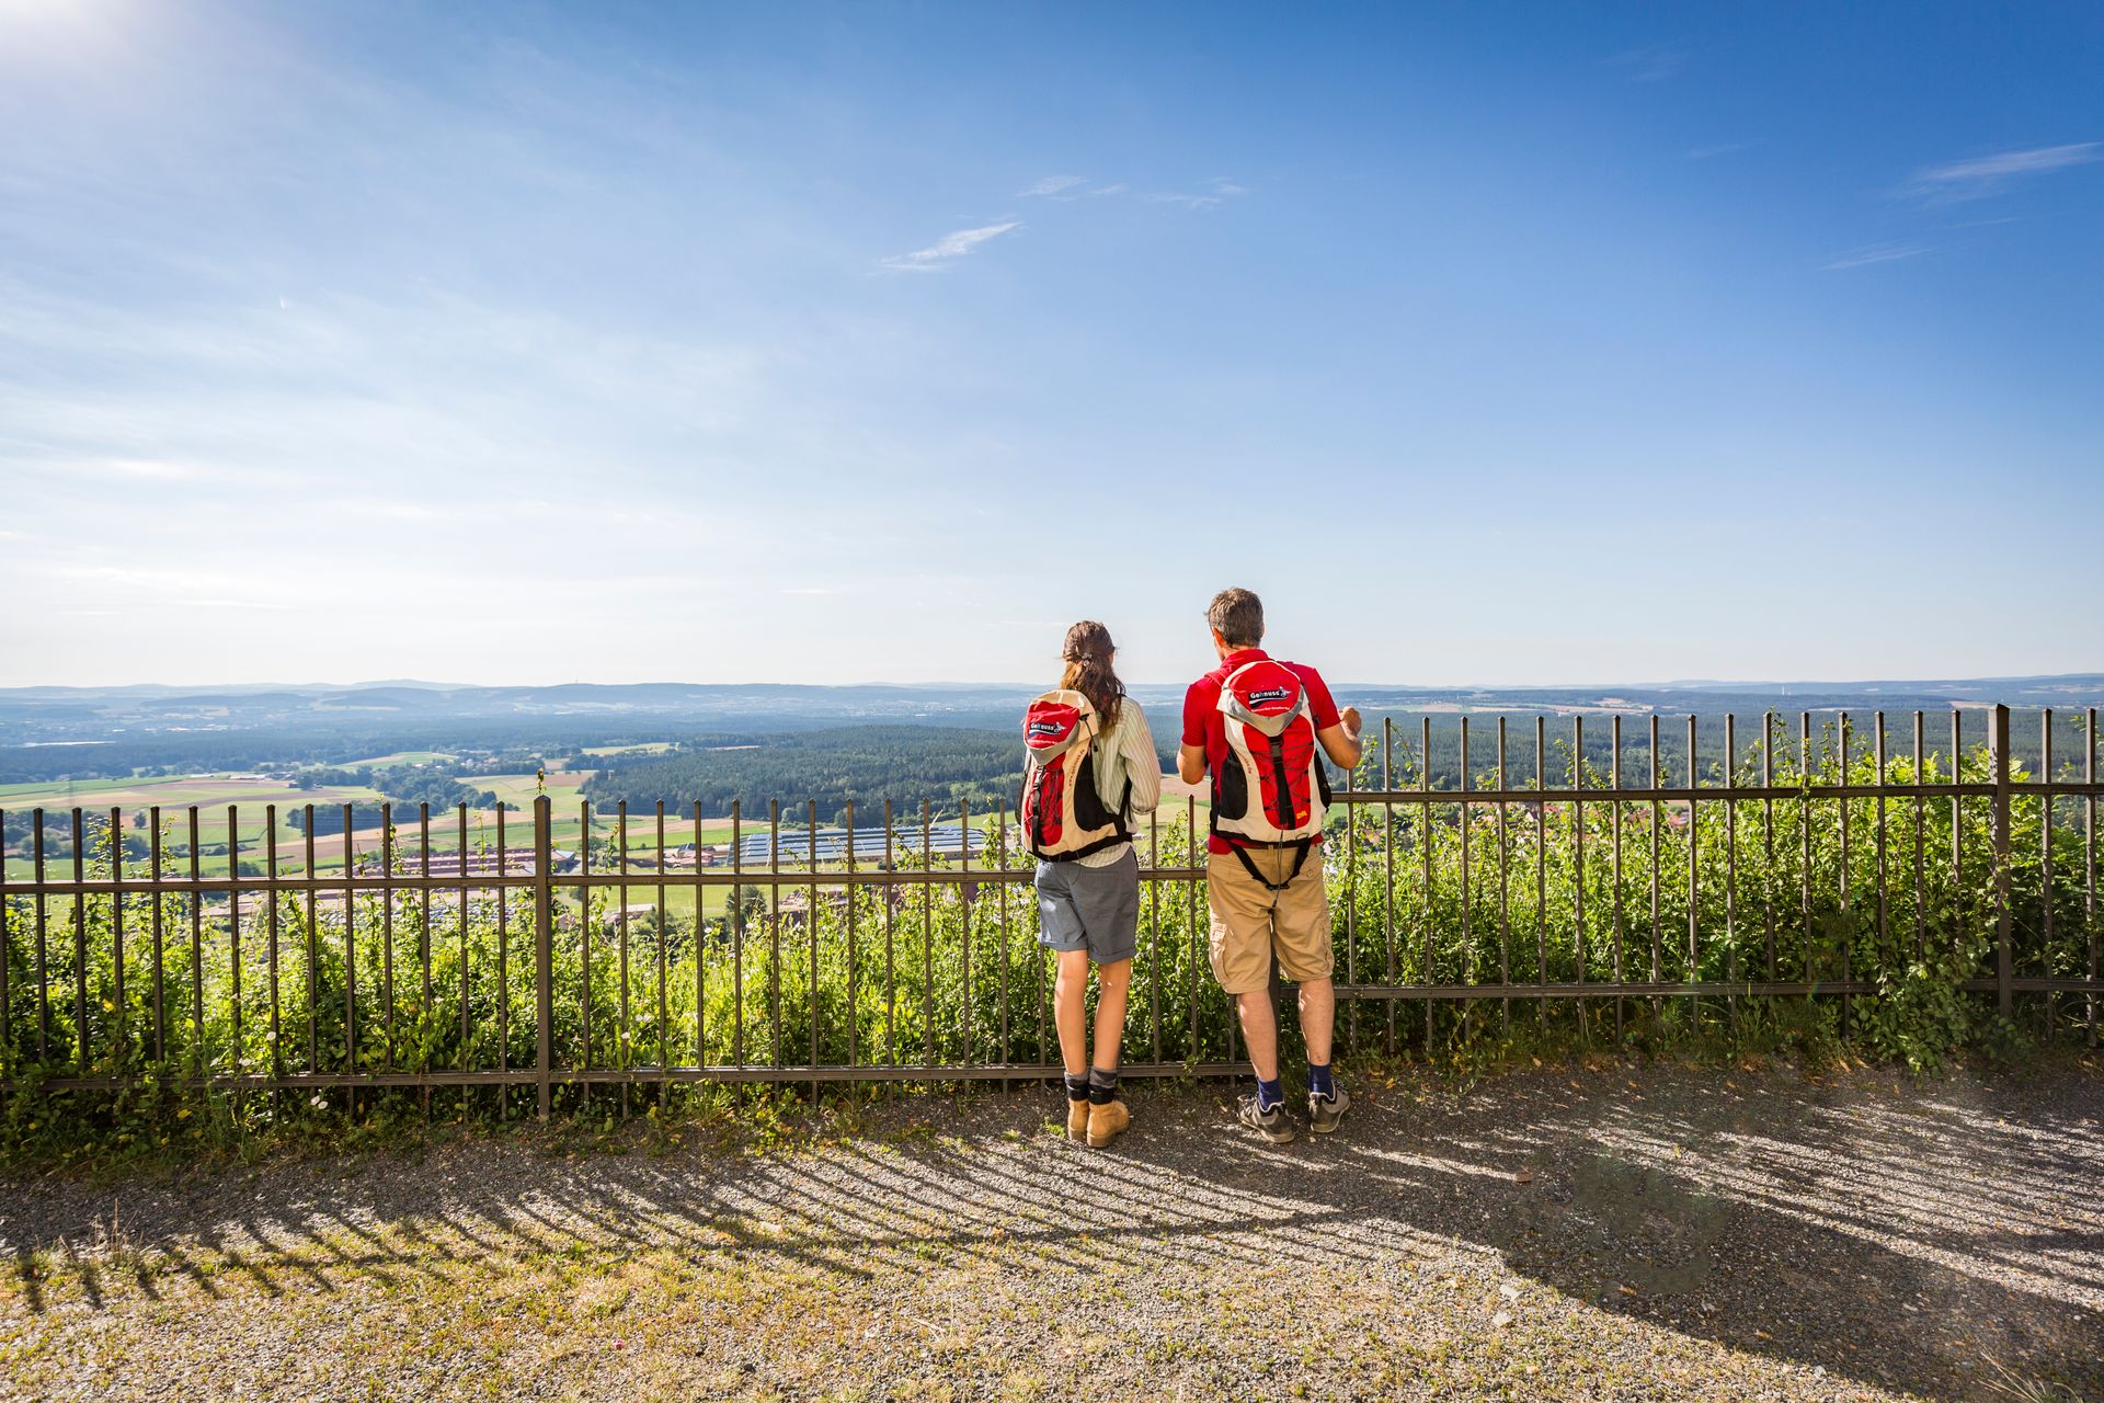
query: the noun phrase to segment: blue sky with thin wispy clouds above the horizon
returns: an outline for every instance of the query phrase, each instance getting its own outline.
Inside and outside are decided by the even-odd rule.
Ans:
[[[0,0],[0,684],[2104,669],[2096,6]]]

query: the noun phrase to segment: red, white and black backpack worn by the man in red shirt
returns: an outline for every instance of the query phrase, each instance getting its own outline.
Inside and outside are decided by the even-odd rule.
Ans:
[[[1273,892],[1300,875],[1330,808],[1307,688],[1273,658],[1243,663],[1220,684],[1227,764],[1212,776],[1212,829],[1235,839],[1235,856]],[[1286,881],[1267,881],[1241,848],[1296,848]]]

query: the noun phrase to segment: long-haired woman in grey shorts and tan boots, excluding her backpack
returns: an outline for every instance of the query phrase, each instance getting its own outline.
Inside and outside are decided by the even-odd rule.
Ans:
[[[1060,692],[1069,698],[1079,692],[1094,713],[1088,764],[1079,768],[1077,761],[1073,778],[1094,782],[1092,799],[1100,808],[1086,808],[1107,814],[1111,822],[1105,837],[1079,852],[1039,858],[1037,940],[1058,955],[1052,1010],[1067,1062],[1067,1138],[1102,1148],[1132,1123],[1132,1113],[1117,1098],[1117,1048],[1126,1033],[1126,991],[1140,919],[1140,860],[1130,831],[1134,816],[1155,812],[1161,801],[1161,764],[1147,713],[1126,696],[1113,671],[1117,648],[1111,631],[1084,618],[1067,629],[1060,658]],[[1033,848],[1039,843],[1033,841]],[[1088,1052],[1090,961],[1096,963],[1098,984],[1094,1058]]]

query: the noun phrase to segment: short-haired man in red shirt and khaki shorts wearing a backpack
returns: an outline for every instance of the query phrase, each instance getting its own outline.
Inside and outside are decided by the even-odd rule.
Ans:
[[[1271,1008],[1271,957],[1300,987],[1300,1035],[1309,1056],[1309,1125],[1336,1130],[1351,1098],[1330,1071],[1336,991],[1330,982],[1330,896],[1321,873],[1328,778],[1315,749],[1351,770],[1359,764],[1359,709],[1338,713],[1321,673],[1258,646],[1265,606],[1248,589],[1222,589],[1206,610],[1220,667],[1185,694],[1187,785],[1212,774],[1212,837],[1206,900],[1212,907],[1212,974],[1235,999],[1256,1094],[1237,1119],[1271,1144],[1294,1138],[1279,1087],[1279,1029]]]

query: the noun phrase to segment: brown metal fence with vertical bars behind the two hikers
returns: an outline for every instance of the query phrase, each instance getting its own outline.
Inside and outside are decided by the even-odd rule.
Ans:
[[[2041,713],[2024,770],[2007,707],[1971,751],[1957,713],[1948,745],[1923,713],[1898,740],[1883,713],[1868,736],[1769,713],[1744,745],[1738,717],[1675,717],[1677,755],[1656,715],[1464,715],[1450,780],[1431,717],[1382,721],[1323,843],[1342,1041],[1502,1033],[1513,1003],[1622,1037],[1761,999],[1830,1001],[1847,1037],[1940,982],[2093,1045],[2096,717],[2070,755]],[[1168,801],[1136,837],[1130,1075],[1239,1064],[1203,814]],[[595,1087],[1063,1071],[1006,808],[284,818],[0,812],[0,1085],[532,1087],[545,1115]]]

